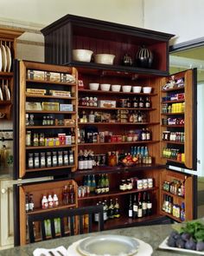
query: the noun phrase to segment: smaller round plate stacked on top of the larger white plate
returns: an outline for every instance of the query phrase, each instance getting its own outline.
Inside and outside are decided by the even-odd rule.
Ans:
[[[137,253],[139,243],[124,235],[104,234],[80,242],[77,249],[86,256],[131,256]]]

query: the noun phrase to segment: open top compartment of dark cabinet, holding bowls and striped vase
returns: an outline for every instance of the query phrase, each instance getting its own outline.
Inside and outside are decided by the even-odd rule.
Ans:
[[[149,75],[169,74],[169,40],[174,35],[73,15],[62,17],[41,32],[45,36],[45,61],[48,63],[148,72]],[[73,49],[92,50],[91,61],[76,61]],[[114,55],[113,64],[96,63],[94,57],[99,54]],[[146,57],[148,63],[143,65]]]

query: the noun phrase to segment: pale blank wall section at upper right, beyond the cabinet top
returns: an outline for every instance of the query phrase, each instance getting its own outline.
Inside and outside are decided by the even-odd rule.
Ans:
[[[175,34],[172,43],[204,36],[203,0],[144,0],[144,28]]]

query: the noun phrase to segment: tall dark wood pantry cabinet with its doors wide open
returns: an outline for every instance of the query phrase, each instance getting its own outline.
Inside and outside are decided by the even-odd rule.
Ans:
[[[173,35],[70,15],[49,25],[42,33],[45,36],[45,60],[48,64],[20,63],[22,84],[19,88],[21,94],[18,95],[19,98],[20,95],[22,97],[18,109],[21,116],[18,158],[22,176],[29,177],[30,173],[53,174],[55,180],[71,180],[76,191],[75,207],[96,205],[104,200],[109,203],[118,199],[120,217],[106,220],[105,229],[194,219],[196,176],[176,172],[171,168],[174,166],[196,170],[194,70],[178,73],[174,77],[169,75],[169,39]],[[136,62],[132,66],[124,66],[122,60],[125,53],[135,60],[137,50],[143,45],[154,55],[152,66],[142,68],[137,66]],[[94,54],[109,53],[114,54],[116,58],[113,65],[75,62],[73,49],[92,49]],[[58,66],[59,64],[63,66]],[[30,69],[68,73],[77,77],[75,82],[68,83],[73,89],[73,98],[66,98],[66,101],[72,102],[73,111],[48,112],[53,113],[54,117],[59,114],[63,120],[68,119],[64,116],[68,115],[69,119],[74,121],[71,127],[62,128],[63,133],[67,128],[75,128],[75,144],[68,146],[74,151],[74,165],[60,167],[62,173],[59,167],[55,166],[42,169],[27,167],[30,152],[50,149],[49,146],[26,147],[27,131],[33,130],[36,133],[38,129],[40,132],[46,129],[48,133],[50,129],[56,134],[58,128],[61,129],[58,126],[44,128],[39,123],[36,123],[36,127],[26,126],[26,114],[39,115],[39,121],[47,113],[43,109],[26,109],[26,102],[39,101],[41,105],[44,105],[45,99],[46,102],[48,99],[49,102],[60,102],[59,96],[28,95],[28,89],[43,90],[50,89],[51,86],[57,89],[63,86],[64,90],[67,87],[64,82],[30,80],[27,77]],[[92,82],[121,85],[121,88],[124,85],[141,86],[142,90],[138,93],[124,92],[122,89],[102,90],[100,87],[92,90],[89,86]],[[150,87],[150,93],[144,93],[144,87]],[[134,105],[134,102],[143,102],[143,105]],[[59,147],[63,148],[52,146],[52,152]],[[85,151],[92,152],[89,159],[93,163],[92,167],[82,167],[79,164],[80,154]],[[132,161],[125,161],[126,156],[130,155]],[[106,183],[103,181],[106,184],[103,186],[103,182],[99,182],[102,175],[108,177]],[[94,182],[90,183],[90,179]],[[132,187],[121,189],[121,183],[128,180],[131,181]],[[151,185],[148,185],[149,180]],[[58,187],[57,182],[59,181],[55,181],[52,186],[53,194],[55,185]],[[139,182],[145,185],[141,187]],[[108,189],[103,191],[105,186]],[[102,189],[100,193],[97,192],[97,187]],[[59,192],[59,189],[56,188],[56,192]],[[31,187],[30,191],[27,188],[23,190],[20,197],[22,202],[26,193],[35,194],[35,187]],[[141,196],[140,200],[150,197],[150,213],[143,209],[143,218],[129,216],[130,200],[133,203],[135,195],[137,200]],[[39,200],[37,196],[36,198]],[[25,216],[24,213],[24,231]],[[25,241],[24,234],[22,243]]]

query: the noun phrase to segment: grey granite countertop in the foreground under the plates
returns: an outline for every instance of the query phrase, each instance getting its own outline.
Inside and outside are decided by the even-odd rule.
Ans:
[[[155,226],[135,226],[127,227],[121,229],[113,229],[101,232],[100,234],[121,234],[135,237],[139,240],[143,240],[146,243],[149,243],[154,250],[152,255],[154,256],[178,256],[178,255],[198,255],[195,253],[178,253],[174,251],[165,251],[158,249],[158,246],[163,242],[163,240],[169,235],[172,228],[171,225],[155,225]],[[27,246],[16,246],[7,250],[0,251],[0,255],[3,256],[27,256],[33,255],[33,251],[37,247],[42,248],[54,248],[57,246],[65,246],[66,248],[72,245],[73,242],[85,238],[87,236],[95,235],[99,233],[86,233],[82,235],[75,235],[72,237],[64,237],[55,240],[47,240],[42,242],[36,242],[34,244],[29,244]],[[73,256],[73,255],[72,255]]]

